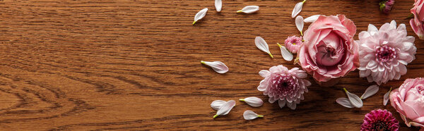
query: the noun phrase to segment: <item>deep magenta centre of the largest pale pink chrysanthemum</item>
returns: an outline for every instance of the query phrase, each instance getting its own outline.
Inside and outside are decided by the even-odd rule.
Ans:
[[[377,56],[377,61],[379,61],[380,63],[390,63],[394,60],[394,58],[396,58],[396,51],[394,50],[394,48],[391,48],[389,46],[379,46],[377,48],[377,54],[375,54],[375,56]]]

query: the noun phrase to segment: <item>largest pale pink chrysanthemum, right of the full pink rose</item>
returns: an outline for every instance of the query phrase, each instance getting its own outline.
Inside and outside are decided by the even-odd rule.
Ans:
[[[385,23],[377,30],[368,25],[368,31],[359,33],[360,77],[378,85],[399,80],[406,74],[406,65],[415,59],[414,37],[406,36],[405,24],[396,29],[396,22]]]

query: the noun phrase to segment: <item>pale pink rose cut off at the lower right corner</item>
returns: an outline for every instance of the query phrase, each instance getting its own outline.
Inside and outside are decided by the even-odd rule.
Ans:
[[[408,127],[424,127],[424,78],[407,79],[390,93],[390,103]]]

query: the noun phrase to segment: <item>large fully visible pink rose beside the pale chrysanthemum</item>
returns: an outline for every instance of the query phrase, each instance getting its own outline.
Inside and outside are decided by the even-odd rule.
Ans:
[[[318,82],[343,77],[359,67],[359,46],[353,40],[356,26],[345,15],[320,15],[305,31],[300,66]]]

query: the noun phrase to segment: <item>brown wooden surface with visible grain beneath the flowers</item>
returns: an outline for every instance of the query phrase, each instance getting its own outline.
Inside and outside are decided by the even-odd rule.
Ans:
[[[336,104],[342,90],[362,94],[368,83],[349,73],[334,87],[313,82],[295,111],[269,104],[257,91],[259,70],[283,64],[276,42],[299,35],[290,17],[294,0],[25,0],[0,1],[0,130],[359,130],[365,113],[382,105],[390,87],[423,77],[424,41],[401,80],[380,87],[363,108]],[[369,23],[409,20],[413,0],[396,0],[384,15],[377,0],[308,0],[300,15],[345,14],[358,32]],[[237,14],[244,6],[260,11]],[[209,8],[192,25],[194,15]],[[305,29],[308,25],[305,25]],[[275,56],[254,45],[261,36]],[[199,61],[223,61],[230,71],[218,74]],[[312,77],[308,77],[312,80]],[[227,116],[213,119],[217,99],[258,96],[252,108],[237,101]],[[264,118],[244,120],[252,110]]]

